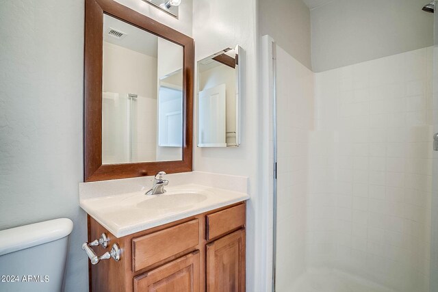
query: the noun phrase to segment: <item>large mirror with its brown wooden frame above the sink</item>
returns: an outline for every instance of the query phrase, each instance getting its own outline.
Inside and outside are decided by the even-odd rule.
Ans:
[[[193,39],[85,2],[84,181],[192,171]]]

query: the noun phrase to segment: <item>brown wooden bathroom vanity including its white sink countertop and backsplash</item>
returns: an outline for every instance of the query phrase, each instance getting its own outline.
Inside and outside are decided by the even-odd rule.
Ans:
[[[149,178],[79,185],[88,213],[90,291],[244,292],[248,178],[166,177],[172,186],[157,195],[133,191]],[[104,256],[114,246],[118,261]]]

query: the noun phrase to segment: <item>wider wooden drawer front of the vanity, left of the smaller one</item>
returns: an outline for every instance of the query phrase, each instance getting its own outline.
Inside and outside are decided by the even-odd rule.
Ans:
[[[192,220],[132,240],[132,267],[139,271],[198,245],[199,220]]]

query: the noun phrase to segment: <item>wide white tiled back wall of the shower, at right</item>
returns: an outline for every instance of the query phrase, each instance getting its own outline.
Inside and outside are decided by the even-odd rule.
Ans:
[[[428,291],[432,48],[315,74],[307,265]]]

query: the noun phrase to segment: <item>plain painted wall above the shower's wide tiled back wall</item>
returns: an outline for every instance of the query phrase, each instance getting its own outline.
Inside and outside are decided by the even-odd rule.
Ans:
[[[335,0],[311,10],[313,72],[432,46],[427,2]]]

